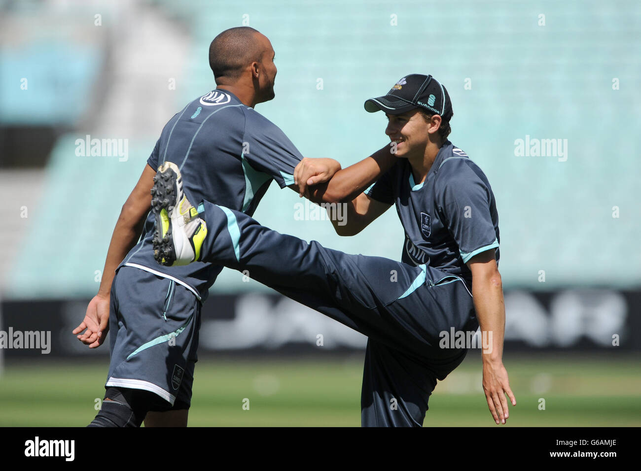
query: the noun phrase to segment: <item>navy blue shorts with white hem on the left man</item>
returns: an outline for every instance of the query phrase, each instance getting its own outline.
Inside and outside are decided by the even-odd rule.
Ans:
[[[197,361],[201,304],[175,281],[121,267],[112,284],[111,361],[105,388],[156,393],[167,407],[188,409]]]

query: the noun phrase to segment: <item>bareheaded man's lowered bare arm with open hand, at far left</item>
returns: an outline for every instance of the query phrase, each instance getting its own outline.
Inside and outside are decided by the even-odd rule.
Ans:
[[[97,295],[89,302],[85,318],[73,330],[78,340],[89,345],[90,349],[102,345],[109,331],[109,298],[115,269],[127,252],[131,250],[131,247],[136,244],[140,231],[142,231],[142,225],[151,209],[151,187],[155,174],[156,170],[146,165],[137,185],[122,205],[104,262],[100,288]],[[84,333],[82,333],[83,331]]]

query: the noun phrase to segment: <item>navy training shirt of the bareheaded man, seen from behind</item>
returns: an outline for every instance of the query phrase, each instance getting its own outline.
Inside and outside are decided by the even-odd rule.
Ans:
[[[178,165],[192,204],[211,201],[251,216],[272,180],[294,183],[303,157],[283,131],[226,90],[212,90],[187,104],[165,124],[147,163]],[[153,256],[154,215],[149,211],[141,240],[122,265],[174,279],[204,301],[222,267],[195,262],[165,267]]]

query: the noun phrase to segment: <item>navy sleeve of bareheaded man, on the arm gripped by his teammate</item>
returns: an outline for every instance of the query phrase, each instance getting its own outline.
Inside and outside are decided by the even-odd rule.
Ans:
[[[294,169],[303,156],[278,126],[249,112],[243,141],[243,158],[253,169],[272,176],[281,188],[294,185]]]

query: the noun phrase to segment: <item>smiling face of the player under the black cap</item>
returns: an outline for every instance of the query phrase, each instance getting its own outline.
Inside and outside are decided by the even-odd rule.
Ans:
[[[388,119],[385,134],[396,143],[396,156],[423,156],[429,143],[429,124],[416,108],[400,115],[385,114]]]

